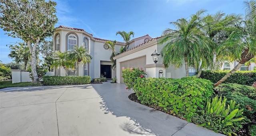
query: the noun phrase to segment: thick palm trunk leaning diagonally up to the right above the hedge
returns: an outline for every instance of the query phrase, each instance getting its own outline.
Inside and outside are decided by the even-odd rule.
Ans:
[[[234,72],[236,72],[236,70],[238,70],[244,63],[248,62],[250,59],[252,59],[254,57],[254,55],[250,54],[248,55],[249,50],[246,49],[244,50],[244,52],[242,52],[241,55],[241,61],[228,73],[226,74],[220,81],[218,81],[216,84],[214,84],[213,87],[218,86],[219,84],[221,84],[222,82],[224,82],[228,77],[230,77]]]

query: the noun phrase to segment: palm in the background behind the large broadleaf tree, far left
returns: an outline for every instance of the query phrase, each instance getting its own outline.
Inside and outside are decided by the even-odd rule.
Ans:
[[[8,55],[10,58],[14,58],[16,63],[24,62],[24,69],[28,68],[27,64],[31,59],[31,54],[29,52],[28,46],[24,43],[18,43],[19,45],[11,45],[10,46],[10,54]]]

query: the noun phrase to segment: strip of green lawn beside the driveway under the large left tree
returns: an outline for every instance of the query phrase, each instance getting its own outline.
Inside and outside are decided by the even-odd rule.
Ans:
[[[33,82],[22,82],[22,83],[14,83],[12,81],[1,81],[0,82],[0,89],[7,88],[7,87],[23,87],[23,86],[42,86],[40,83],[33,83]]]

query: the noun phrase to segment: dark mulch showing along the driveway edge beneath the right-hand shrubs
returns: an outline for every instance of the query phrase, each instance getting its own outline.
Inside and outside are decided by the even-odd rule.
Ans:
[[[137,102],[137,103],[140,103],[140,100],[138,100],[138,97],[136,96],[136,93],[132,93],[132,94],[130,94],[129,96],[128,96],[128,98],[130,99],[130,100],[132,100],[132,101],[135,101],[135,102]],[[140,103],[141,104],[141,103]],[[148,107],[151,107],[150,105],[146,105],[146,106],[148,106]],[[158,111],[162,111],[162,107],[151,107],[151,108],[153,108],[153,109],[156,109],[156,110],[158,110]],[[168,113],[167,112],[167,114],[169,114],[170,115],[170,113]],[[183,118],[181,118],[181,117],[178,117],[178,118],[180,118],[180,119],[183,119]],[[186,119],[184,119],[184,120],[186,120]],[[251,123],[249,123],[249,124],[255,124],[256,125],[256,115],[254,115],[253,117],[252,117],[252,122]],[[243,127],[242,127],[242,129],[239,131],[239,132],[236,132],[236,136],[250,136],[249,134],[248,134],[248,126],[249,126],[249,124],[244,124],[243,125]]]

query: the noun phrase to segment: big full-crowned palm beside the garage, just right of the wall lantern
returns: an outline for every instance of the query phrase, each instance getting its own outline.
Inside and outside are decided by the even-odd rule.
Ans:
[[[165,67],[174,64],[175,68],[180,68],[185,63],[186,76],[189,76],[188,66],[196,65],[194,62],[200,60],[202,51],[210,51],[204,33],[200,30],[204,12],[206,10],[199,10],[189,20],[181,18],[170,22],[176,30],[166,29],[160,39],[161,44],[166,43],[160,52]]]

